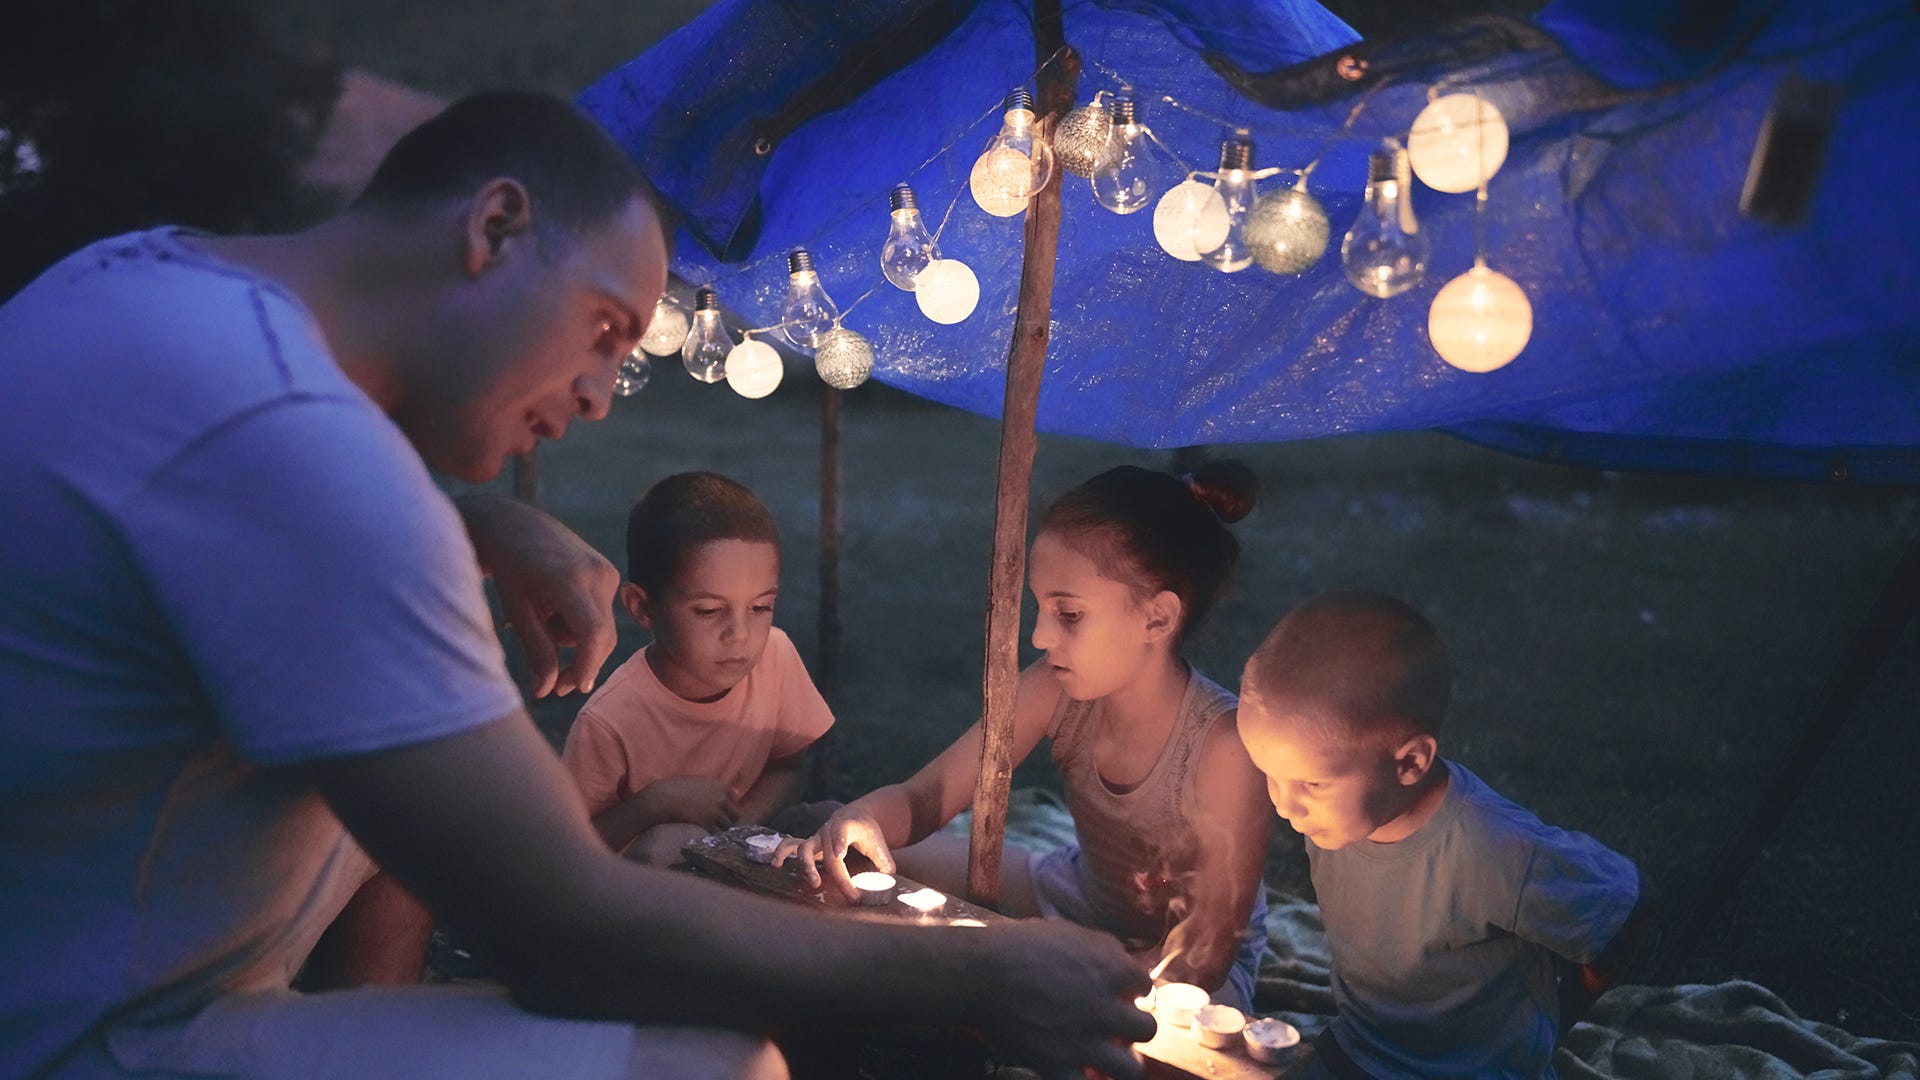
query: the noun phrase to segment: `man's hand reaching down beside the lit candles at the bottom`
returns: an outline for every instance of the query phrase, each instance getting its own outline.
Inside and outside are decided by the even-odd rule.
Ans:
[[[1150,986],[1108,934],[1058,919],[996,924],[995,963],[979,986],[977,1015],[1010,1059],[1043,1076],[1140,1076],[1133,1043],[1154,1038],[1154,1019],[1133,999]]]

